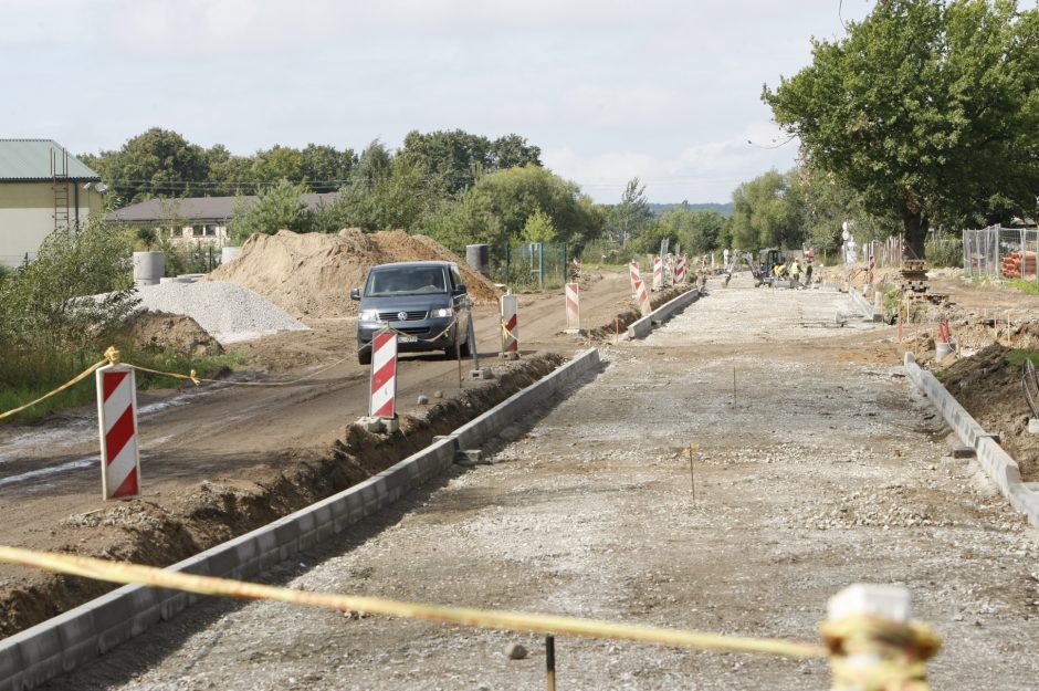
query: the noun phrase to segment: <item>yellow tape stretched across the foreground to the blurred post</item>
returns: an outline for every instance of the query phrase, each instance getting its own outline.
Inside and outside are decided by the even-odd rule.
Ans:
[[[630,640],[673,648],[758,652],[798,658],[820,658],[827,656],[827,649],[822,646],[781,639],[723,636],[657,626],[616,624],[612,621],[556,615],[447,607],[442,605],[427,605],[363,595],[292,590],[290,588],[231,580],[229,578],[214,578],[212,576],[196,576],[192,574],[169,572],[151,566],[140,566],[138,564],[106,562],[67,554],[31,552],[17,547],[0,546],[0,562],[32,566],[111,583],[139,583],[153,587],[171,588],[200,595],[274,600],[292,605],[323,607],[325,609],[337,609],[340,611],[364,611],[455,626],[526,631],[529,634],[549,636],[579,636],[584,638]]]

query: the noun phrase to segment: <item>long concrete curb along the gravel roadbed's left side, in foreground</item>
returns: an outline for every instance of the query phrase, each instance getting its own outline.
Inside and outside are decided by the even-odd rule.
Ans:
[[[168,567],[169,570],[251,578],[392,504],[510,422],[599,368],[590,348],[396,465],[269,525]],[[28,691],[174,618],[202,596],[123,586],[63,615],[0,640],[0,691]]]

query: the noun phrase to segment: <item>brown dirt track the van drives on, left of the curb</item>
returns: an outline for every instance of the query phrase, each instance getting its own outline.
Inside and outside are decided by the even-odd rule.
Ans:
[[[608,325],[617,313],[631,310],[628,279],[621,272],[586,275],[581,287],[586,324]],[[563,333],[563,291],[557,293],[521,296],[523,362],[546,353],[568,357],[585,347],[580,337]],[[477,307],[475,316],[481,355],[493,358],[484,364],[505,371],[496,358],[496,311]],[[136,503],[105,504],[99,499],[93,408],[40,425],[0,426],[0,544],[165,565],[335,489],[330,482],[300,486],[295,477],[324,462],[344,438],[346,426],[367,413],[368,368],[357,364],[353,320],[312,325],[312,332],[241,345],[249,369],[237,378],[293,380],[343,360],[316,377],[284,387],[217,384],[140,394],[144,495]],[[402,356],[398,411],[426,415],[429,407],[417,404],[419,394],[432,397],[442,391],[449,400],[465,390],[498,386],[500,380],[469,380],[471,368],[471,362],[462,364],[466,380],[460,386],[454,360],[442,355]],[[113,515],[113,505],[124,511]],[[186,517],[191,520],[187,527]],[[0,635],[92,594],[67,589],[57,594],[54,585],[53,579],[43,583],[39,574],[0,565],[0,603],[6,604],[0,607]],[[21,594],[18,607],[7,599],[15,590]]]

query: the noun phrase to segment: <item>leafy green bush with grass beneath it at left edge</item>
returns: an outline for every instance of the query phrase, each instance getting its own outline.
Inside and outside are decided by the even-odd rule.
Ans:
[[[192,357],[170,348],[135,348],[125,329],[139,300],[133,283],[130,243],[99,219],[78,232],[57,230],[35,261],[0,273],[0,412],[18,408],[71,380],[103,359],[114,345],[125,362],[151,369],[218,375],[237,355]],[[103,299],[90,295],[105,293]],[[140,373],[140,388],[182,381]],[[94,400],[93,378],[8,418],[27,421]]]

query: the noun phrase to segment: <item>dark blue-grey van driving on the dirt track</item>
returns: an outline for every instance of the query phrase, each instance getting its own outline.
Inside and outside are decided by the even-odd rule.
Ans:
[[[389,325],[401,353],[443,350],[470,355],[469,293],[454,262],[399,262],[368,270],[365,287],[350,289],[360,301],[357,360],[371,363],[371,336]]]

